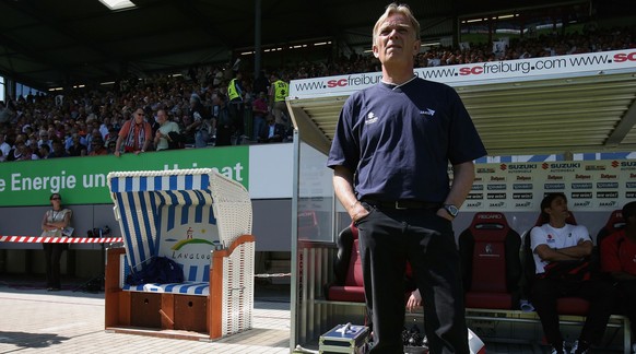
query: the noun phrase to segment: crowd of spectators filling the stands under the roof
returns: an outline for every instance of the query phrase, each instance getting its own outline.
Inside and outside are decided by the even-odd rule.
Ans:
[[[636,47],[636,26],[588,30],[513,39],[500,52],[492,44],[435,47],[419,54],[415,64],[425,68]],[[129,76],[108,90],[85,87],[8,97],[0,102],[0,162],[115,154],[121,127],[139,109],[152,129],[152,142],[144,144],[149,151],[166,146],[160,138],[152,139],[162,125],[156,118],[160,109],[178,126],[180,146],[285,142],[292,135],[291,119],[284,111],[273,117],[274,81],[377,71],[380,63],[376,58],[353,54],[268,69],[257,78],[237,62],[198,66],[178,75]]]

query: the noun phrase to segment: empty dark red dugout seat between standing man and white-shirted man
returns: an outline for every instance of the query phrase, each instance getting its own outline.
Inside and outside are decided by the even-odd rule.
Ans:
[[[466,306],[519,307],[521,237],[499,212],[479,212],[458,239]]]

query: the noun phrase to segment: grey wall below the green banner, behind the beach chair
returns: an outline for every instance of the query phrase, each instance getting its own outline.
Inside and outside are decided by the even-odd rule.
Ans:
[[[254,200],[252,234],[257,237],[259,253],[257,272],[267,271],[266,261],[288,259],[292,239],[292,201],[290,199]],[[39,236],[46,206],[0,208],[0,236]],[[95,227],[108,226],[113,236],[119,236],[111,204],[72,205],[72,225],[78,237]],[[0,243],[0,273],[44,273],[44,253],[40,244]],[[71,245],[62,257],[62,273],[80,278],[104,272],[102,245]]]

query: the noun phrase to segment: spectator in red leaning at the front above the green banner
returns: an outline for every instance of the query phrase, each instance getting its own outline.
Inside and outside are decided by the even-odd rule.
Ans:
[[[152,128],[144,120],[144,117],[145,113],[141,107],[138,107],[133,117],[123,123],[117,138],[115,156],[119,157],[122,145],[123,152],[134,153],[136,155],[148,150],[152,142]]]

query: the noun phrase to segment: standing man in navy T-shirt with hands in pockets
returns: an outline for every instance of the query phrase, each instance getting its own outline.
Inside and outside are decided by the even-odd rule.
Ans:
[[[457,93],[416,78],[420,24],[392,3],[373,32],[382,80],[346,101],[331,145],[338,199],[360,231],[372,353],[402,353],[404,269],[424,299],[432,353],[469,353],[451,221],[486,151]],[[448,164],[454,181],[449,187]]]

